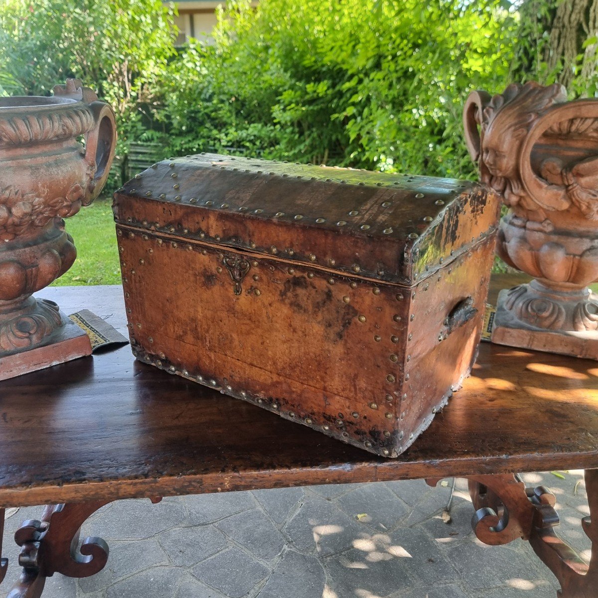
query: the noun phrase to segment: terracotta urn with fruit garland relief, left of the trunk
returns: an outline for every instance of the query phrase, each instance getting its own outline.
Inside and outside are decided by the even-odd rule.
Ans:
[[[64,218],[100,193],[115,142],[112,109],[79,80],[52,97],[0,97],[0,380],[91,352],[56,304],[31,295],[74,263]]]

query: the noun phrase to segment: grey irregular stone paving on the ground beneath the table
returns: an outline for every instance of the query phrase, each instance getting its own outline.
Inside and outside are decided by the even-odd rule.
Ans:
[[[589,557],[582,472],[525,474],[557,496],[559,533]],[[81,536],[104,538],[108,565],[86,579],[55,575],[45,598],[554,598],[556,580],[522,541],[488,547],[471,531],[463,480],[313,486],[120,501]],[[11,535],[39,508],[8,518],[4,597],[19,575]]]

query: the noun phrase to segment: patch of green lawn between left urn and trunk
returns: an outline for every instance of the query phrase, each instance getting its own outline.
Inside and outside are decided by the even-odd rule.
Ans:
[[[112,198],[96,199],[88,208],[81,208],[66,219],[66,230],[75,240],[77,260],[53,286],[120,284]]]

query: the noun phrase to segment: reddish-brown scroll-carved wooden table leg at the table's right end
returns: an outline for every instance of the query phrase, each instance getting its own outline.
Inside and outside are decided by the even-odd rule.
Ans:
[[[559,598],[598,596],[598,469],[585,471],[590,517],[585,517],[582,525],[592,541],[589,565],[554,532],[560,523],[554,510],[556,498],[544,486],[526,488],[515,474],[467,479],[476,509],[472,527],[478,539],[490,545],[508,544],[517,538],[528,540],[559,580]],[[439,479],[426,481],[435,486]]]

